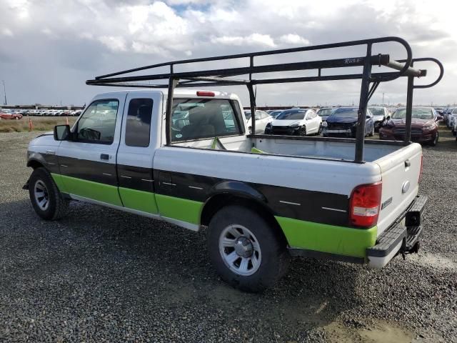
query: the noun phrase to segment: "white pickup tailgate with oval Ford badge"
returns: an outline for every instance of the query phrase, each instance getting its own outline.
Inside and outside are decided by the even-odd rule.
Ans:
[[[378,235],[393,224],[418,194],[422,148],[413,143],[374,161],[381,168],[381,212]]]

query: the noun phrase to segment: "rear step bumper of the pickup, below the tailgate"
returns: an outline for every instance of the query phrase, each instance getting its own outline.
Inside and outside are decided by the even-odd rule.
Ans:
[[[398,253],[417,252],[422,233],[421,217],[426,202],[426,196],[416,197],[396,222],[376,239],[376,245],[366,249],[370,267],[382,268]]]

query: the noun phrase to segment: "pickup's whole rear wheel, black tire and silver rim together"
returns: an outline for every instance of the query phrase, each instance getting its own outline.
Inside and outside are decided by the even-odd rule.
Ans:
[[[209,223],[211,262],[225,282],[245,292],[262,292],[288,267],[286,240],[276,227],[251,209],[224,207]]]

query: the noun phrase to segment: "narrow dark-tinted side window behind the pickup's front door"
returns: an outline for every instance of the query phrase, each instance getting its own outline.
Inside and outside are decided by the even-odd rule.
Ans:
[[[126,145],[149,146],[152,99],[131,99],[126,119]]]

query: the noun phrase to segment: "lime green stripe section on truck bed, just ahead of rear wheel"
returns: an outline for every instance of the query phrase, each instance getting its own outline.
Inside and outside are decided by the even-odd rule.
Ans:
[[[156,202],[162,217],[173,218],[191,224],[200,224],[203,202],[169,197],[162,194],[156,194]]]

